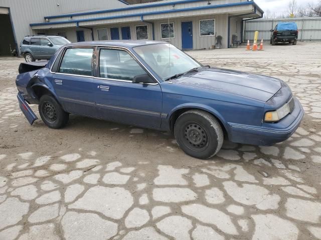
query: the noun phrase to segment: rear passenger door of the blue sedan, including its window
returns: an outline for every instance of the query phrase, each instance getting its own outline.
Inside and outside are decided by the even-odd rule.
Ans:
[[[51,80],[60,102],[68,112],[96,117],[93,50],[94,47],[65,48],[57,72],[52,74]]]

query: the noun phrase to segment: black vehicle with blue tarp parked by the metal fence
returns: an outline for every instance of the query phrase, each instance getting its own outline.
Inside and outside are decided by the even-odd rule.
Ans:
[[[270,44],[275,45],[276,42],[288,42],[296,45],[298,30],[295,22],[279,22],[270,31],[272,32]]]

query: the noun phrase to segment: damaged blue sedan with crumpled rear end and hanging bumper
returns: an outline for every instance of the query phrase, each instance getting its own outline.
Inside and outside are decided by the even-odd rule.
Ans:
[[[304,111],[280,79],[204,66],[163,41],[71,43],[48,62],[21,63],[18,99],[32,124],[65,126],[69,114],[171,130],[189,155],[209,158],[224,138],[271,145]]]

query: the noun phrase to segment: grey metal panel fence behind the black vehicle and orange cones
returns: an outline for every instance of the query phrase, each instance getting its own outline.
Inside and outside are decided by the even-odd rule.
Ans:
[[[321,40],[321,17],[293,17],[281,19],[255,19],[246,21],[245,40],[252,40],[254,31],[259,31],[259,39],[270,40],[270,29],[274,28],[278,22],[294,21],[299,30],[298,40]]]

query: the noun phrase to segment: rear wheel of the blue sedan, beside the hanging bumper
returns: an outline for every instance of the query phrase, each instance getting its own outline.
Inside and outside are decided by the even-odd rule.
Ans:
[[[69,113],[65,112],[52,95],[40,97],[38,105],[41,119],[50,128],[62,128],[69,120]]]

